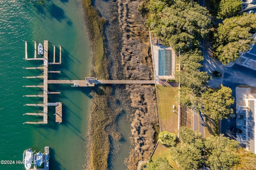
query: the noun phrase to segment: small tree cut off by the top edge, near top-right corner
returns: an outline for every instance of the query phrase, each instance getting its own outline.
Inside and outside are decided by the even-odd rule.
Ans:
[[[218,6],[217,18],[223,19],[238,15],[242,8],[241,0],[221,0]]]

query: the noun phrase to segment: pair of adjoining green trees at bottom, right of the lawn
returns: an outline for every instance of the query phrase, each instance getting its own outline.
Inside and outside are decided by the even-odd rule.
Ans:
[[[180,144],[170,148],[170,154],[181,170],[200,169],[228,170],[239,161],[236,153],[238,143],[223,135],[202,138],[199,132],[180,128]]]

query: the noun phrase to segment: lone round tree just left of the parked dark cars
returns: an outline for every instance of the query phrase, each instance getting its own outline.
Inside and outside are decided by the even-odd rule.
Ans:
[[[229,87],[220,85],[220,89],[208,89],[202,94],[204,111],[215,120],[227,119],[233,114],[230,108],[234,104],[232,90]]]

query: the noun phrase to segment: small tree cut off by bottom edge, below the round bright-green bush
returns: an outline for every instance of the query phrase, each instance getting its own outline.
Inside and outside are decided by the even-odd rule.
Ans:
[[[169,162],[166,158],[156,157],[154,162],[149,160],[147,164],[148,170],[173,170],[173,168],[169,165]]]

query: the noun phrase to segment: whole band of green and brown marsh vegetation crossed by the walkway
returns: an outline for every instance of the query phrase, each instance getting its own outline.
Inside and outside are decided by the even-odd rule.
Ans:
[[[138,11],[138,5],[142,1],[110,0],[108,3],[111,5],[106,8],[111,12],[106,15],[112,17],[109,20],[112,26],[104,26],[108,22],[100,17],[91,0],[82,2],[92,50],[92,68],[89,76],[98,79],[153,79],[150,44],[144,24],[146,21]],[[118,10],[113,11],[113,6]],[[122,39],[118,39],[118,34],[122,35]],[[116,50],[113,50],[113,47]],[[92,87],[90,95],[92,107],[88,120],[84,169],[108,168],[112,149],[110,142],[122,138],[116,130],[116,119],[123,113],[121,100],[127,111],[124,114],[130,117],[132,131],[130,155],[124,161],[129,170],[135,170],[139,160],[150,158],[157,142],[159,124],[154,86],[97,85]]]

